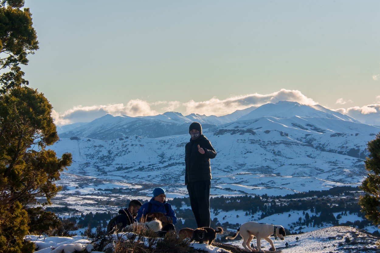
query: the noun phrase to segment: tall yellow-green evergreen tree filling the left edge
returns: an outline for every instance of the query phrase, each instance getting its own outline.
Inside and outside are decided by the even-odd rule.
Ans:
[[[0,252],[12,253],[34,251],[33,243],[23,242],[28,223],[38,230],[33,221],[41,216],[55,220],[30,208],[51,204],[60,190],[55,181],[71,164],[70,153],[57,158],[46,149],[59,139],[52,106],[26,86],[19,66],[38,49],[32,14],[23,6],[24,0],[0,0]],[[46,202],[38,203],[38,197]]]

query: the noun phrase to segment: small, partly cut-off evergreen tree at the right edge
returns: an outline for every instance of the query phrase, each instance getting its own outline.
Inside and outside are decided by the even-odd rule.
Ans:
[[[368,220],[380,225],[380,133],[367,147],[369,156],[364,163],[369,173],[359,187],[366,192],[360,197],[359,205]]]

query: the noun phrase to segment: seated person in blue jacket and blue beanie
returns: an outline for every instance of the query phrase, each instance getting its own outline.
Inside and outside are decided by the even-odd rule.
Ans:
[[[155,217],[153,214],[149,215],[149,213],[163,213],[163,216],[165,217],[160,219],[163,221],[162,231],[176,231],[176,228],[174,228],[174,224],[177,223],[176,213],[174,213],[174,209],[171,207],[171,204],[166,202],[165,199],[165,190],[160,187],[154,188],[153,198],[151,198],[149,202],[142,204],[137,212],[136,220],[141,222],[142,218],[146,218],[146,221],[151,221]],[[146,216],[147,214],[148,216]]]

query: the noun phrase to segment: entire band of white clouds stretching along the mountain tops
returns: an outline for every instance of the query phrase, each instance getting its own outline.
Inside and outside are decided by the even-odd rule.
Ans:
[[[347,114],[360,122],[380,125],[380,96],[376,97],[375,104],[366,106],[354,106],[350,108],[340,108],[334,111]],[[181,104],[179,101],[156,101],[153,103],[144,100],[130,100],[127,104],[108,104],[98,106],[76,106],[63,114],[52,111],[52,117],[57,125],[67,125],[76,122],[90,122],[94,119],[102,117],[106,114],[128,115],[131,117],[136,116],[149,116],[157,115],[167,111],[178,111],[182,108],[182,114],[188,115],[191,113],[205,114],[205,115],[226,115],[236,110],[242,110],[251,106],[258,107],[266,103],[277,103],[278,101],[295,101],[300,104],[315,105],[318,104],[312,98],[303,95],[299,90],[286,90],[282,89],[278,92],[270,94],[248,94],[240,96],[231,96],[225,100],[220,100],[216,97],[207,101],[194,101],[190,100],[187,103]],[[345,101],[340,98],[336,104],[352,103],[351,100]],[[331,109],[331,108],[330,108]]]

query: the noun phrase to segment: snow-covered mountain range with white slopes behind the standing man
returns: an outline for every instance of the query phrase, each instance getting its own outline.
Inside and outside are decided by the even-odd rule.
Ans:
[[[217,151],[211,161],[212,195],[326,190],[359,185],[366,176],[366,144],[380,127],[295,102],[266,104],[246,112],[237,121],[204,127],[204,135]],[[73,164],[62,176],[62,194],[80,196],[78,188],[95,192],[120,187],[127,196],[149,196],[160,185],[171,198],[186,195],[184,147],[192,121],[173,112],[136,118],[106,115],[71,134],[60,134],[52,149],[59,156],[73,154]],[[142,137],[158,132],[168,136]]]

